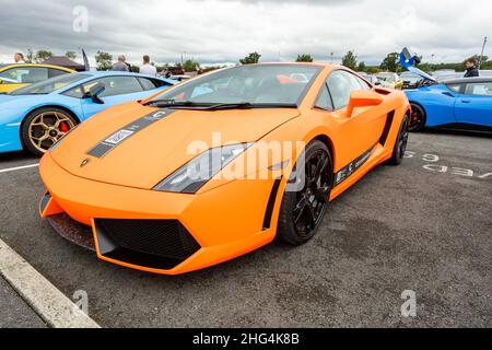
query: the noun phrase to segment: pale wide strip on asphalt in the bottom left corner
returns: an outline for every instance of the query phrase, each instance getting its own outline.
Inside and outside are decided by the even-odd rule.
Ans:
[[[101,328],[2,240],[0,275],[50,327]]]

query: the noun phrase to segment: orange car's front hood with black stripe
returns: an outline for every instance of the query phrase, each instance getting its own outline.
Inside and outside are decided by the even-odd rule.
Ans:
[[[165,116],[155,118],[157,112]],[[90,118],[50,154],[58,165],[73,175],[151,189],[197,155],[188,151],[190,147],[254,142],[298,114],[295,108],[157,109],[133,102]],[[107,142],[118,131],[136,130],[141,125],[145,126],[117,144],[112,143],[114,139]],[[212,138],[216,141],[212,142]],[[104,148],[108,144],[112,147],[106,152]]]

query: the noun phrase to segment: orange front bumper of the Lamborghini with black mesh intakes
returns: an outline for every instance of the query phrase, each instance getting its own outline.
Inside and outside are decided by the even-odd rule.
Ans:
[[[48,218],[52,224],[54,220],[59,221],[60,215],[65,215],[68,229],[63,229],[63,224],[58,225],[56,229],[59,233],[89,248],[93,242],[98,258],[117,265],[163,275],[185,273],[255,250],[273,241],[276,235],[280,210],[278,197],[283,191],[274,192],[274,205],[271,210],[270,197],[272,190],[278,187],[274,186],[273,179],[234,180],[200,195],[181,195],[116,186],[78,177],[61,168],[49,153],[42,159],[39,171],[48,191],[40,202],[42,217]],[[81,243],[77,235],[81,235],[84,230],[75,229],[73,234],[74,226],[70,224],[72,220],[85,228],[90,226],[92,230],[86,232],[92,233],[93,237],[87,238],[85,234],[85,238],[82,240],[85,243]],[[159,259],[155,259],[156,253],[150,248],[154,246],[152,240],[157,240],[159,244],[169,240],[160,240],[162,236],[157,232],[159,237],[153,235],[151,242],[147,242],[149,240],[147,233],[138,230],[133,230],[129,235],[139,236],[131,241],[137,242],[139,246],[134,248],[131,242],[130,244],[126,242],[124,246],[125,249],[136,254],[125,254],[129,252],[121,253],[121,249],[116,249],[119,252],[116,254],[115,249],[110,249],[110,242],[108,249],[106,238],[112,237],[112,234],[103,232],[107,229],[102,224],[105,220],[124,224],[134,221],[142,224],[177,222],[191,237],[187,241],[186,252],[189,256],[172,254],[174,261],[169,260],[169,256],[157,256],[163,260],[163,264],[159,264]],[[269,222],[268,228],[265,228],[265,222]],[[136,226],[139,225],[133,224],[133,228]],[[70,230],[71,235],[67,234]],[[140,241],[147,242],[142,243],[145,249],[142,249]],[[148,258],[152,258],[151,261],[141,256],[142,250]],[[177,256],[179,259],[176,259]]]

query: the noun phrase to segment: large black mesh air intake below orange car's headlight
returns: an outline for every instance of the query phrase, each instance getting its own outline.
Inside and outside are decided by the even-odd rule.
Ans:
[[[97,220],[97,226],[118,248],[145,255],[183,261],[200,249],[177,220]]]

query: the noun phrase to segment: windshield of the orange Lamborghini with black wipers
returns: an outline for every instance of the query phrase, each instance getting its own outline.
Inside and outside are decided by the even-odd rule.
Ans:
[[[190,80],[151,103],[298,105],[319,71],[305,65],[241,66]]]

